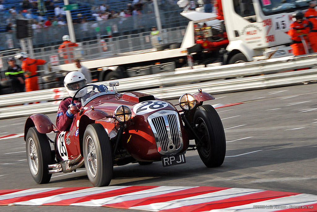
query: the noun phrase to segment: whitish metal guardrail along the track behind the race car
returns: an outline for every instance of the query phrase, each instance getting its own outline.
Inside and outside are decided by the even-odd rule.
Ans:
[[[279,73],[314,67],[316,64],[317,54],[268,59],[120,79],[118,80],[120,86],[117,89],[119,92],[139,90],[162,99],[177,98],[184,93],[195,93],[199,88],[211,94],[255,90],[317,80],[317,68]],[[149,87],[152,89],[148,89]],[[57,100],[67,96],[64,88],[2,95],[0,119],[56,112],[59,105]],[[53,102],[8,107],[38,101]]]

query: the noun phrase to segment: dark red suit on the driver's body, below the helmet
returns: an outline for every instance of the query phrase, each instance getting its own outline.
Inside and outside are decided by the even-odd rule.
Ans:
[[[74,126],[74,120],[76,119],[76,115],[73,118],[68,117],[66,114],[68,110],[68,106],[72,102],[72,97],[66,97],[63,99],[58,107],[57,118],[56,118],[56,127],[59,131],[68,131],[72,129]],[[81,107],[81,102],[79,100],[74,100],[74,103],[79,103],[78,108]]]

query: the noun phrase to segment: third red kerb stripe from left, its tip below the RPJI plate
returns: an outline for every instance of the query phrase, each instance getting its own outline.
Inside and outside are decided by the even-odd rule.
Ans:
[[[93,195],[89,195],[89,196],[81,196],[81,197],[61,200],[61,201],[57,201],[57,202],[53,202],[53,203],[45,203],[43,205],[70,205],[72,203],[81,203],[81,202],[86,202],[86,201],[90,201],[90,200],[102,199],[102,198],[107,198],[107,197],[111,197],[111,196],[118,196],[118,195],[128,194],[128,193],[132,193],[132,192],[153,189],[153,188],[157,188],[157,187],[159,187],[159,186],[130,186],[127,188],[111,190],[111,191],[93,194]]]

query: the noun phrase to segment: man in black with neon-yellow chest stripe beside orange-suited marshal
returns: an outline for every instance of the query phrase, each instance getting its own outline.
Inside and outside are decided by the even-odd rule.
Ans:
[[[5,76],[9,77],[12,81],[12,88],[14,93],[24,92],[24,76],[21,67],[16,65],[14,57],[8,58],[8,70],[5,72]]]

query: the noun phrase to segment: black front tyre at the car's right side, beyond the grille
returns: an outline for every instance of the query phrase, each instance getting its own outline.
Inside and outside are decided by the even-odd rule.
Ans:
[[[195,139],[200,159],[207,167],[223,164],[226,137],[217,111],[211,105],[199,106],[194,115],[194,126],[200,140]]]

